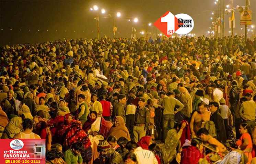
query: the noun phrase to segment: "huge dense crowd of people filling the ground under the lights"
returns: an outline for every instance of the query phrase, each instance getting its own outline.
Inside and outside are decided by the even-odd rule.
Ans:
[[[0,138],[47,164],[255,164],[256,38],[0,47]]]

